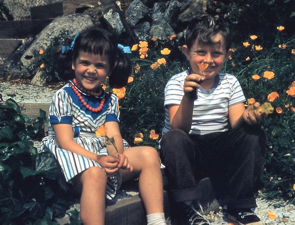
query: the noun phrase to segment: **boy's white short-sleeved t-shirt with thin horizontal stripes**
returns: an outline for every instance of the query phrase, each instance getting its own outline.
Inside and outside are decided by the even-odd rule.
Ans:
[[[168,105],[180,105],[184,95],[184,79],[189,70],[170,78],[165,86],[165,124],[162,134],[171,129]],[[244,102],[245,96],[234,75],[219,73],[211,89],[198,89],[198,99],[194,101],[192,126],[189,134],[204,135],[228,130],[228,108]]]

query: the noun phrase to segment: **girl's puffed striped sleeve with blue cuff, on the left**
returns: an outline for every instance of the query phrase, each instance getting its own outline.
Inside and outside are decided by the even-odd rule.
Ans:
[[[51,124],[72,124],[72,99],[66,91],[59,89],[53,96],[49,107]]]

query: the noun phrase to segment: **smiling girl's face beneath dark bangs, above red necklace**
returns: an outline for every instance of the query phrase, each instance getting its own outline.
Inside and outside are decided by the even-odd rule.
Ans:
[[[108,56],[79,51],[72,63],[78,84],[89,91],[97,92],[110,73]]]

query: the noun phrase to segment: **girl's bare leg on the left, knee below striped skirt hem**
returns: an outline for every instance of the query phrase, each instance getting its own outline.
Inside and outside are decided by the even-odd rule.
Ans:
[[[83,225],[105,224],[106,174],[99,167],[90,167],[75,178],[76,191],[81,193],[80,216]]]

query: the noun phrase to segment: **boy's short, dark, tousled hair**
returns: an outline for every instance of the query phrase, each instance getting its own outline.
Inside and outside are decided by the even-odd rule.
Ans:
[[[225,47],[228,51],[231,46],[231,34],[229,22],[218,16],[202,15],[193,19],[186,29],[185,41],[188,49],[194,45],[196,40],[213,44],[212,35],[220,33],[225,40]]]

